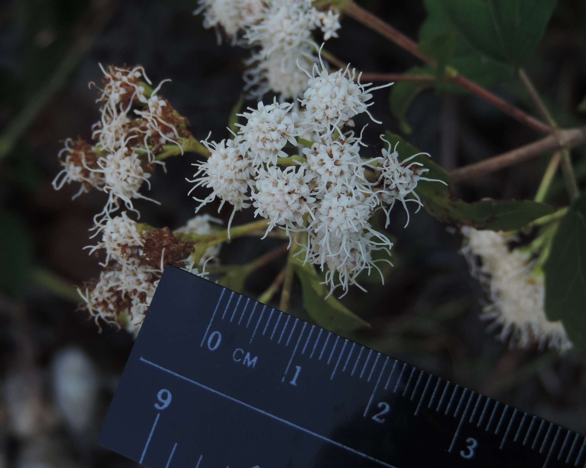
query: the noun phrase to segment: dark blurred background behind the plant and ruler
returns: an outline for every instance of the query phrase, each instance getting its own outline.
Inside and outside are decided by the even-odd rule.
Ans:
[[[359,3],[414,39],[425,20],[421,1]],[[83,247],[95,243],[88,229],[105,197],[93,191],[71,201],[76,187],[54,191],[50,182],[60,170],[63,140],[90,139],[98,110],[96,90],[87,84],[101,79],[98,63],[139,63],[154,82],[171,78],[162,94],[189,118],[193,134],[204,138],[212,130],[216,140],[227,136],[249,51],[218,46],[214,31],[192,15],[195,7],[195,0],[13,0],[0,6],[0,468],[133,465],[96,443],[132,338],[108,326],[98,333],[87,314],[76,311],[70,286],[100,273],[98,259]],[[586,90],[585,26],[584,2],[560,1],[527,66],[561,125],[584,125],[574,109]],[[340,38],[326,47],[364,71],[401,73],[418,64],[348,18]],[[515,80],[494,91],[533,111]],[[371,110],[383,128],[398,133],[388,96],[388,90],[376,92]],[[448,169],[538,137],[478,98],[432,90],[414,101],[407,118],[413,127],[408,139]],[[380,128],[373,127],[364,140],[376,153]],[[583,182],[581,156],[574,152]],[[141,220],[173,229],[193,216],[185,177],[192,176],[194,159],[172,158],[166,174],[157,171],[149,196],[161,205],[138,201]],[[544,156],[469,181],[459,195],[470,201],[532,198],[546,163]],[[567,203],[561,180],[550,201]],[[206,208],[214,214],[214,205]],[[250,216],[239,213],[234,224]],[[459,254],[458,233],[424,210],[404,230],[403,216],[397,214],[390,226],[395,267],[384,286],[373,283],[369,292],[354,290],[345,298],[372,324],[349,338],[586,431],[583,356],[519,350],[493,339],[478,318],[483,294]],[[245,263],[271,246],[271,239],[238,239],[223,247],[221,260]],[[251,278],[246,294],[257,297],[281,266],[275,262]],[[291,311],[307,318],[299,300]]]

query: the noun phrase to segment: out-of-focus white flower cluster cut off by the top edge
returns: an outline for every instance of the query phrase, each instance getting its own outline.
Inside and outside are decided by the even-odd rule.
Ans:
[[[205,27],[223,27],[233,44],[254,47],[244,74],[246,90],[254,96],[274,91],[281,99],[297,98],[305,90],[303,68],[316,61],[312,31],[323,40],[338,37],[340,15],[319,11],[313,0],[200,0],[194,13],[203,11]],[[218,32],[218,40],[220,41]]]

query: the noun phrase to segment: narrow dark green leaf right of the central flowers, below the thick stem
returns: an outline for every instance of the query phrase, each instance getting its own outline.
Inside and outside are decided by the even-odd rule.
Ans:
[[[399,159],[403,160],[420,150],[407,143],[398,135],[386,132],[387,140],[394,145],[398,142]],[[418,162],[429,172],[424,177],[444,181],[430,182],[421,180],[415,192],[421,198],[425,210],[441,222],[457,227],[473,226],[476,229],[514,230],[520,229],[541,216],[553,213],[554,208],[534,201],[493,200],[468,203],[456,197],[449,188],[451,177],[430,157],[421,154],[410,162]]]

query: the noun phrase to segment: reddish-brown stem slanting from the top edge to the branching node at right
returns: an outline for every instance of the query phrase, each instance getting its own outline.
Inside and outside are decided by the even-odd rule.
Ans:
[[[419,49],[419,47],[417,47],[417,44],[413,40],[411,40],[409,37],[405,36],[403,33],[396,30],[393,26],[385,23],[376,15],[373,15],[373,13],[370,13],[369,11],[366,11],[365,9],[356,5],[355,2],[353,2],[352,0],[345,2],[343,8],[348,16],[351,16],[352,18],[356,19],[358,22],[362,23],[367,27],[370,27],[370,29],[373,29],[381,36],[386,37],[391,42],[394,42],[398,46],[409,51],[415,57],[418,57],[418,59],[424,61],[431,67],[437,67],[437,62],[431,57],[425,55]],[[537,132],[544,134],[552,132],[551,127],[549,125],[546,125],[546,123],[541,122],[539,119],[536,119],[533,116],[527,114],[526,112],[523,112],[521,109],[509,104],[508,102],[499,98],[495,94],[492,94],[492,92],[479,86],[475,82],[468,80],[467,78],[463,77],[457,72],[451,71],[450,74],[447,74],[446,78],[452,82],[455,82],[456,84],[460,85],[466,90],[472,92],[478,97],[484,99],[486,102],[489,102],[490,104],[500,109],[501,111],[507,113],[517,121],[533,128]]]

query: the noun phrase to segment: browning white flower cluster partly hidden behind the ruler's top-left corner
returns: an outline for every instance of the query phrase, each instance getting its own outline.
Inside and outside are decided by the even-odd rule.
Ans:
[[[218,220],[208,215],[195,216],[177,232],[209,234],[212,233],[210,222]],[[102,265],[105,269],[98,280],[86,284],[83,291],[79,290],[84,308],[94,317],[96,324],[102,319],[108,324],[122,326],[134,335],[142,325],[166,263],[203,276],[207,261],[220,251],[219,245],[210,247],[196,266],[190,260],[190,249],[179,241],[169,246],[163,239],[166,247],[162,248],[161,245],[149,245],[148,234],[142,232],[126,212],[108,218],[97,234],[101,234],[101,242],[88,248],[90,253],[104,250],[106,259]],[[169,235],[175,239],[171,233]],[[161,237],[161,234],[156,232],[156,236]],[[169,247],[175,247],[176,254]]]

